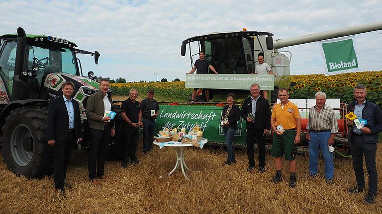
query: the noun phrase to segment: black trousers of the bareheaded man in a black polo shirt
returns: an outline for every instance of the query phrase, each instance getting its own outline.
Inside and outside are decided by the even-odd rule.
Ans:
[[[124,135],[124,148],[123,148],[122,162],[127,163],[129,157],[131,161],[136,161],[137,156],[135,155],[135,152],[137,150],[137,145],[138,145],[139,129],[131,128],[128,126],[123,126],[122,129],[123,129],[123,135]]]

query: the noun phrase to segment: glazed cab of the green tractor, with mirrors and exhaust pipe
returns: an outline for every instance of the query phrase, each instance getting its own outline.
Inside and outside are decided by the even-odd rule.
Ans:
[[[98,61],[98,52],[79,50],[66,39],[31,34],[25,35],[24,42],[17,38],[17,34],[3,35],[0,46],[0,77],[11,100],[46,98],[43,86],[50,73],[82,75],[78,53],[94,55]],[[18,46],[22,46],[19,52]]]

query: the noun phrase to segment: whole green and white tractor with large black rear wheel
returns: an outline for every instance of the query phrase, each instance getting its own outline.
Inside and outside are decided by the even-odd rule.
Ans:
[[[47,144],[46,124],[49,101],[61,96],[65,81],[75,84],[73,98],[86,119],[86,99],[98,91],[98,83],[82,74],[77,54],[99,53],[77,48],[66,39],[17,34],[0,37],[0,135],[3,162],[15,174],[41,178],[52,169],[52,149]]]

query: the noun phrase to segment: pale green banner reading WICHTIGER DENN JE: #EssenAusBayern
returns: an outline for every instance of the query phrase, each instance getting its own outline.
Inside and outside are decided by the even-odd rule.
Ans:
[[[257,83],[262,90],[273,90],[275,76],[270,74],[186,74],[186,88],[244,89]]]

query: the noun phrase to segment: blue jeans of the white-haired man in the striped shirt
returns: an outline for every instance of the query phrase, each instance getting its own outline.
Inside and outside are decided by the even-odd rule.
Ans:
[[[328,140],[331,136],[331,132],[310,132],[309,141],[309,174],[316,175],[318,173],[318,154],[321,147],[322,155],[325,163],[325,178],[333,179],[334,176],[334,164],[333,154],[329,152]]]

